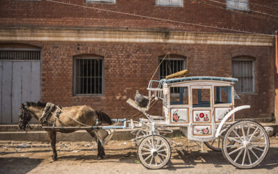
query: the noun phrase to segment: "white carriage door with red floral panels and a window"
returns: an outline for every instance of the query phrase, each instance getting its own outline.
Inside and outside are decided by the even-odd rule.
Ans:
[[[191,86],[193,136],[211,136],[211,86]]]

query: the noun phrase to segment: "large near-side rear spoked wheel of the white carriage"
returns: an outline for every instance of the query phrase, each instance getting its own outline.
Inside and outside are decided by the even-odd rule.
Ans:
[[[235,143],[229,145],[230,141]],[[268,133],[262,125],[252,120],[242,120],[227,130],[222,142],[222,153],[237,168],[253,168],[268,154],[269,143]]]

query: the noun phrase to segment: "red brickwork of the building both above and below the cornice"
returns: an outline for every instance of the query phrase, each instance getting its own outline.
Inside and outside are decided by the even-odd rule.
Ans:
[[[205,2],[204,0],[183,1],[183,7],[155,6],[155,0],[116,1],[115,4],[85,3],[85,0],[74,0],[70,3],[208,26],[244,29],[256,33],[273,34],[278,26],[277,17],[263,15],[251,17],[250,15],[256,14],[252,12],[234,13],[224,8],[214,8],[200,3]],[[277,1],[262,2],[258,0],[254,2],[278,8]],[[270,8],[259,8],[250,4],[250,9],[266,10],[267,13],[278,15],[277,11]],[[0,2],[0,11],[0,26],[3,28],[23,26],[227,32],[104,13],[43,0],[3,0]],[[245,13],[245,15],[241,13]],[[3,43],[2,47],[8,47],[6,43],[13,45],[14,41],[2,40],[1,42]],[[126,104],[126,100],[129,97],[133,98],[136,89],[140,93],[147,94],[147,84],[158,65],[158,57],[170,52],[170,54],[186,57],[190,76],[231,77],[232,58],[236,56],[254,58],[255,93],[240,94],[241,100],[236,100],[236,106],[250,104],[251,109],[240,111],[237,118],[266,118],[271,117],[275,111],[274,46],[76,41],[20,41],[20,43],[42,49],[41,100],[44,102],[54,102],[62,106],[87,104],[97,110],[105,111],[112,118],[126,118],[137,112],[136,109]],[[103,96],[73,95],[73,56],[82,54],[104,57]],[[158,78],[158,74],[156,74],[156,78]],[[152,110],[153,113],[162,113],[161,104],[154,105]]]

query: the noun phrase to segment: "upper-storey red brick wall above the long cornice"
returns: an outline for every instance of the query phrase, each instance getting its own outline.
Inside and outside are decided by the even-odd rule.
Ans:
[[[183,7],[156,6],[155,0],[117,0],[115,4],[85,3],[85,0],[56,1],[257,33],[274,34],[278,26],[278,11],[277,9],[275,10],[275,8],[278,8],[278,1],[276,0],[252,0],[250,1],[252,3],[249,4],[249,12],[227,10],[225,5],[208,0],[184,0]],[[225,0],[218,1],[225,3]],[[254,5],[254,3],[262,6]],[[270,8],[264,6],[270,6]],[[254,11],[270,15],[255,13]],[[143,17],[107,13],[45,0],[1,0],[0,12],[0,26],[100,27],[231,32],[190,24],[177,24]]]

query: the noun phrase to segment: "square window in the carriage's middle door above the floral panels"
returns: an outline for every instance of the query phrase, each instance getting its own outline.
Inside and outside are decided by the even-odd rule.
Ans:
[[[210,107],[211,90],[210,89],[193,89],[192,90],[193,107]]]

